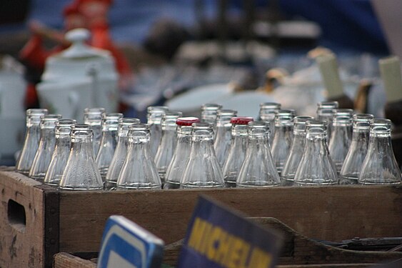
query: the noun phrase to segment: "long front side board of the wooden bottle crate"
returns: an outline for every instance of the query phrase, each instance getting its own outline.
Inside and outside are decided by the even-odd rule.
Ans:
[[[402,237],[402,187],[61,192],[60,250],[99,250],[111,214],[128,217],[166,244],[175,242],[184,237],[199,194],[251,217],[275,217],[306,237]]]

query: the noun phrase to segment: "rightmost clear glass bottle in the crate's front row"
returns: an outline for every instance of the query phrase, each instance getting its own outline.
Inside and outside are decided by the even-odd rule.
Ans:
[[[370,127],[368,151],[361,167],[359,184],[401,184],[391,144],[391,120],[373,119]]]

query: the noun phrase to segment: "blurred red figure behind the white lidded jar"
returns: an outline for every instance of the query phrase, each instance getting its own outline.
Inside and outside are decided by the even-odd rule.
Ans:
[[[125,90],[131,84],[133,72],[129,61],[124,54],[114,45],[109,34],[109,22],[107,13],[112,0],[74,0],[63,10],[64,27],[66,31],[76,28],[87,28],[91,31],[89,44],[99,49],[111,52],[116,62],[116,70],[119,72],[119,89]],[[48,29],[39,23],[31,24],[33,35],[20,51],[20,60],[27,67],[28,87],[26,89],[26,109],[39,107],[39,99],[35,85],[40,81],[44,71],[47,57],[69,46],[64,39],[64,33]],[[47,37],[59,43],[54,49],[47,50],[43,45],[43,37]],[[119,104],[119,111],[124,112],[128,107]]]

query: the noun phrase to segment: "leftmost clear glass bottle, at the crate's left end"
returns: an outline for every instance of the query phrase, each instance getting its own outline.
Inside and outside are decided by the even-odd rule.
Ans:
[[[29,174],[29,170],[34,162],[36,151],[41,139],[41,116],[47,114],[46,109],[28,109],[26,110],[26,133],[24,139],[24,147],[21,149],[18,161],[16,163],[16,171],[25,175]]]

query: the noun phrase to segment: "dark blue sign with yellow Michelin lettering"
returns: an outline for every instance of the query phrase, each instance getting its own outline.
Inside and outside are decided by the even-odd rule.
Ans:
[[[273,268],[282,238],[209,197],[199,197],[179,268]]]

